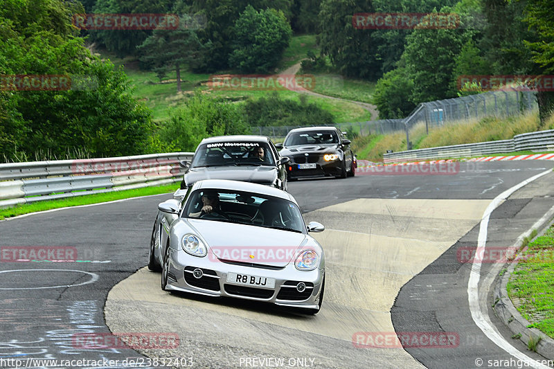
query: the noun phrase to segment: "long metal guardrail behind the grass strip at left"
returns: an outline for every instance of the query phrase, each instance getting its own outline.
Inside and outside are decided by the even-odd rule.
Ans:
[[[193,152],[0,164],[0,208],[181,180]]]

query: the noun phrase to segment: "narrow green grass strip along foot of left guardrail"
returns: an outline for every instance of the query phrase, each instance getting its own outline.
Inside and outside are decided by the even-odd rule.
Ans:
[[[66,208],[69,206],[80,206],[88,204],[98,204],[100,202],[127,199],[130,197],[159,195],[163,193],[175,192],[179,188],[179,183],[172,183],[164,186],[136,188],[135,190],[123,190],[115,192],[106,192],[96,195],[82,195],[78,197],[69,197],[66,199],[56,199],[48,201],[38,201],[31,204],[21,204],[12,208],[0,209],[0,219],[16,217],[37,211],[51,210],[56,208]]]

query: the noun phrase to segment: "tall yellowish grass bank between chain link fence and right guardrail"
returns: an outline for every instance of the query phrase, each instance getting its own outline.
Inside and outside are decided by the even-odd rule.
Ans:
[[[410,130],[413,149],[461,145],[495,140],[508,140],[517,134],[554,128],[554,114],[542,125],[536,111],[509,118],[473,119],[460,124],[449,124],[425,132],[425,124],[416,125]],[[387,135],[370,135],[356,138],[352,147],[358,159],[382,161],[386,150],[394,152],[406,150],[406,133],[397,132]],[[521,152],[525,154],[526,152]],[[533,152],[529,152],[533,154]],[[506,155],[506,154],[503,154]]]

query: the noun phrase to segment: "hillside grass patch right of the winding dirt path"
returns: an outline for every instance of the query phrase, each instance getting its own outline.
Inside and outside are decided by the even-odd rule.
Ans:
[[[312,91],[322,95],[334,96],[346,100],[372,103],[375,82],[352,80],[341,75],[316,74],[316,83]]]

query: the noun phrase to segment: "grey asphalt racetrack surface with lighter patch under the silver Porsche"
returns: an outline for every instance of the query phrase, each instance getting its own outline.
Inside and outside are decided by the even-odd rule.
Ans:
[[[479,220],[491,199],[552,167],[550,161],[462,163],[452,175],[360,175],[289,183],[305,219],[327,228],[318,239],[328,249],[333,278],[316,316],[162,293],[159,273],[142,268],[157,204],[170,195],[0,222],[2,247],[66,247],[79,260],[15,262],[2,254],[0,359],[21,359],[24,365],[28,358],[111,359],[118,362],[79,367],[128,368],[124,359],[146,364],[143,354],[148,354],[181,357],[181,364],[192,362],[193,368],[279,367],[278,361],[260,366],[270,357],[284,359],[280,367],[299,367],[304,359],[314,368],[492,368],[489,359],[510,355],[472,320],[470,264],[456,260],[456,251],[476,246]],[[511,246],[554,206],[552,181],[547,174],[494,210],[490,246]],[[493,266],[483,266],[483,280]],[[114,297],[107,300],[110,291]],[[481,296],[483,305],[492,304],[488,298]],[[488,315],[498,323],[494,314]],[[108,333],[107,324],[114,332],[178,332],[179,348],[137,352],[75,344],[75,334]],[[518,350],[541,359],[497,327]],[[393,331],[454,332],[459,342],[454,348],[406,350],[352,344],[359,332]],[[477,358],[483,366],[476,366]],[[0,367],[15,366],[0,361]]]

